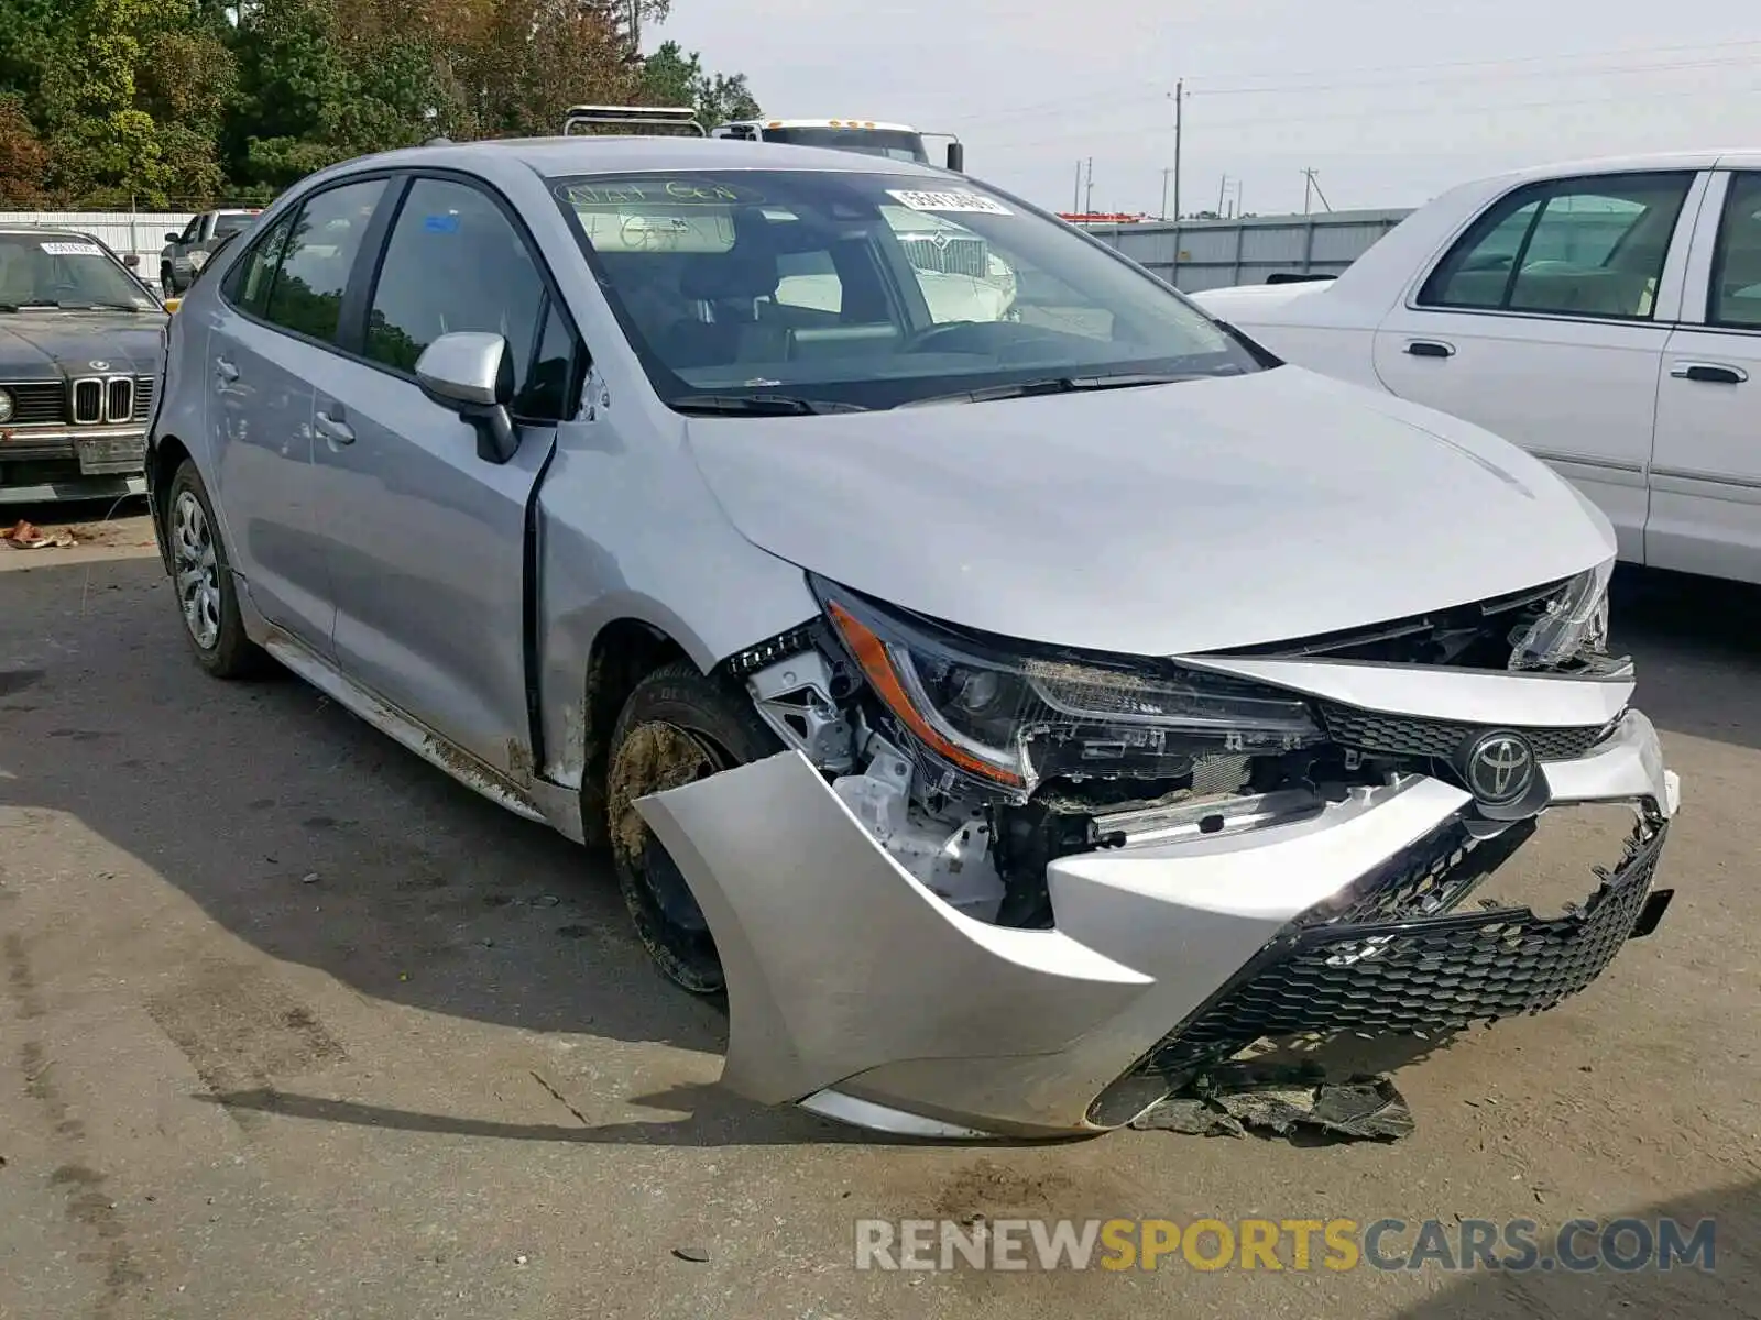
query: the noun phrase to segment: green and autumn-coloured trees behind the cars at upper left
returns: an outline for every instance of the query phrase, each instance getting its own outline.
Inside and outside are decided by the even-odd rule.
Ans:
[[[639,55],[671,2],[0,0],[0,197],[259,201],[435,134],[555,134],[650,84],[710,123],[755,114],[745,76]]]

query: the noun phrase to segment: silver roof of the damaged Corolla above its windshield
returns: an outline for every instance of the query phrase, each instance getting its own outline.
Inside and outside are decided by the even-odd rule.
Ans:
[[[437,143],[350,160],[349,169],[384,165],[453,165],[518,160],[542,178],[616,174],[669,169],[803,169],[840,174],[921,174],[947,178],[947,171],[910,160],[888,160],[858,151],[782,143],[743,143],[731,137],[497,137],[481,143]]]

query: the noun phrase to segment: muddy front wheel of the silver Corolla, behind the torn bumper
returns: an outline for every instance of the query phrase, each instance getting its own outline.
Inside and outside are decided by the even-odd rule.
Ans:
[[[683,873],[634,801],[763,760],[780,746],[738,685],[701,674],[689,660],[637,683],[613,729],[606,817],[618,887],[648,956],[692,994],[726,991],[722,959]]]

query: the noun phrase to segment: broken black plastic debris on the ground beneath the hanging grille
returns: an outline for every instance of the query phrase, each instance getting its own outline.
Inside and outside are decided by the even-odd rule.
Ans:
[[[1194,1137],[1243,1137],[1263,1128],[1278,1137],[1321,1133],[1335,1140],[1400,1140],[1412,1111],[1388,1077],[1317,1079],[1310,1068],[1224,1074],[1199,1079],[1132,1119],[1131,1126]]]

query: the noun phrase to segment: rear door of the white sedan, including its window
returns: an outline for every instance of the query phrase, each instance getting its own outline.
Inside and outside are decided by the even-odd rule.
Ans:
[[[1375,334],[1382,384],[1551,463],[1645,556],[1657,366],[1705,180],[1692,169],[1518,187]]]

